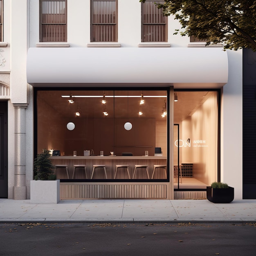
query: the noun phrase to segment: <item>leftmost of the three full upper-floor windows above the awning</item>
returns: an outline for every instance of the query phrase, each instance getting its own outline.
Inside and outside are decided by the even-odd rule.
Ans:
[[[67,42],[67,0],[40,0],[40,42]]]

